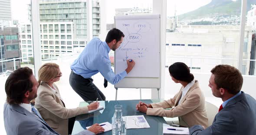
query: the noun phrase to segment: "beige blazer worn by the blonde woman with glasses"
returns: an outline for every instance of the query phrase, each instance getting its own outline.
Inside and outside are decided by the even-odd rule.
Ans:
[[[59,93],[58,87],[53,85],[56,92]],[[69,118],[88,113],[87,106],[73,109],[65,108],[64,102],[45,82],[41,82],[38,87],[35,107],[47,124],[61,135],[68,135]]]

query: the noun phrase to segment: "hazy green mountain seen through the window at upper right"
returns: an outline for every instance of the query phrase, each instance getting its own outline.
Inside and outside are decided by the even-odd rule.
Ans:
[[[256,4],[256,0],[247,0],[247,11],[251,10],[251,4]],[[197,10],[184,13],[178,16],[179,21],[201,19],[216,16],[240,16],[241,0],[212,0],[205,6],[201,6]],[[246,13],[247,14],[247,13]]]

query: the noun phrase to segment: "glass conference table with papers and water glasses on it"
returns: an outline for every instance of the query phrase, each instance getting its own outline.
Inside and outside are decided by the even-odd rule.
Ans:
[[[112,123],[112,117],[115,113],[115,105],[122,105],[123,116],[138,116],[144,115],[150,128],[144,129],[127,129],[126,135],[163,135],[163,123],[166,121],[163,117],[159,116],[147,116],[145,113],[141,113],[135,109],[135,106],[139,101],[144,103],[158,103],[159,100],[114,100],[114,101],[98,101],[100,106],[104,109],[95,111],[89,114],[82,114],[76,116],[75,123],[72,130],[72,135],[81,132],[87,126],[91,126],[95,123],[109,122]],[[162,101],[162,100],[161,100]],[[80,102],[79,106],[87,106],[90,102]],[[112,135],[112,130],[103,132],[98,135]]]

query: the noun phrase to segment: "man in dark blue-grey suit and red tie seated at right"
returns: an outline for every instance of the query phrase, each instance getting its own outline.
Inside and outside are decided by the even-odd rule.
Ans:
[[[255,135],[256,100],[240,91],[240,71],[230,65],[217,65],[211,73],[209,87],[223,103],[210,127],[203,130],[201,125],[194,125],[189,129],[190,135]]]

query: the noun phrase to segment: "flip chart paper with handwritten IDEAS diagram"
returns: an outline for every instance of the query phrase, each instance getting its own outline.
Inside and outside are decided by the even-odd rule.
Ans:
[[[118,17],[115,16],[115,27],[120,29],[125,37],[115,51],[115,73],[124,71],[127,68],[126,60],[133,59],[135,67],[128,77],[160,77],[159,17]]]

